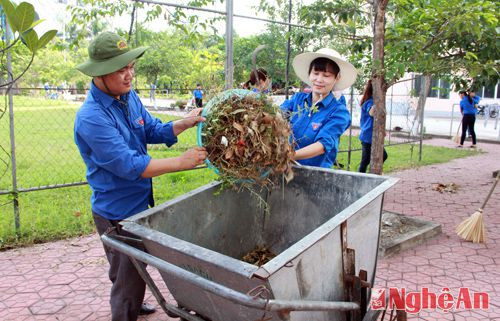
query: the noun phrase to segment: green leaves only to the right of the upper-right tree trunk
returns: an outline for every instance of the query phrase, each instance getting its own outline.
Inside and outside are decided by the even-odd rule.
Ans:
[[[451,75],[457,87],[473,79],[498,80],[498,4],[394,0],[393,7],[398,14],[386,29],[389,79],[408,71]]]

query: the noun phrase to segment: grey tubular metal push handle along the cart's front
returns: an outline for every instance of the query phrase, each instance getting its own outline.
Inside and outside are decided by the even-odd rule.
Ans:
[[[342,301],[305,301],[305,300],[264,300],[235,291],[219,283],[207,280],[197,274],[184,270],[176,265],[159,259],[149,253],[136,249],[126,243],[114,239],[110,235],[102,235],[102,242],[134,259],[151,265],[158,270],[170,273],[185,282],[191,283],[205,291],[234,303],[265,311],[352,311],[359,310],[359,304]]]

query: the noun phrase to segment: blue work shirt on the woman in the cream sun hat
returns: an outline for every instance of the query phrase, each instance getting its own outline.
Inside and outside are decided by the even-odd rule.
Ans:
[[[281,109],[290,120],[295,150],[316,142],[325,148],[324,154],[298,162],[330,168],[337,158],[340,136],[351,125],[351,115],[345,105],[345,98],[337,100],[332,93],[317,103],[317,110],[311,106],[312,93],[300,92],[283,102]]]

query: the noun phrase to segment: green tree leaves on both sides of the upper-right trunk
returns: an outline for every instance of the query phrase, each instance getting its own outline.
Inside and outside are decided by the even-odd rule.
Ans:
[[[372,8],[362,0],[317,0],[300,10],[302,23],[334,35],[356,67],[371,75]],[[386,87],[406,72],[452,76],[455,85],[498,80],[498,3],[483,0],[391,0],[386,12]],[[347,45],[347,47],[346,47]]]

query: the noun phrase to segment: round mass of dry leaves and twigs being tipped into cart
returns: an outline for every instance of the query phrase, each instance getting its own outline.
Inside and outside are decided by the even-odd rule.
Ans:
[[[222,178],[260,184],[276,174],[292,179],[291,129],[279,107],[264,95],[224,94],[212,102],[201,133],[208,159]]]

